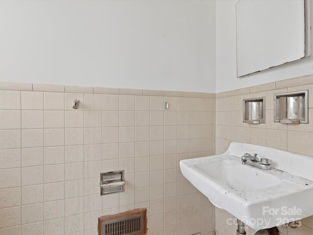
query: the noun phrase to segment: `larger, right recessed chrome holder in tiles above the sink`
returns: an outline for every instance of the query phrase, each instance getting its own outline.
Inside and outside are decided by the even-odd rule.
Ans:
[[[308,123],[308,90],[274,94],[274,122]]]

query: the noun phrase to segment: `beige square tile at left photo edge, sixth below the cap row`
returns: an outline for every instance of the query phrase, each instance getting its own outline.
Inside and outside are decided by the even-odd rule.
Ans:
[[[0,189],[0,209],[21,206],[21,187]]]

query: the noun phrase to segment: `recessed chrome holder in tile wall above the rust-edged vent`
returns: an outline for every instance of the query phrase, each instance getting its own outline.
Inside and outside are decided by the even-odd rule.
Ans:
[[[124,170],[100,173],[101,195],[124,192]]]

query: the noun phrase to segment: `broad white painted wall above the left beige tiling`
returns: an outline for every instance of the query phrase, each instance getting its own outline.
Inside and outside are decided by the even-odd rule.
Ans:
[[[0,1],[0,81],[215,93],[215,1]]]

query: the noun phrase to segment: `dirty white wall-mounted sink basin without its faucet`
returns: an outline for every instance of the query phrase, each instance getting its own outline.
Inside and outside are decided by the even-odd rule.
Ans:
[[[244,153],[271,159],[270,170],[244,165]],[[260,230],[313,215],[313,157],[232,142],[222,155],[180,161],[180,169],[216,207]]]

